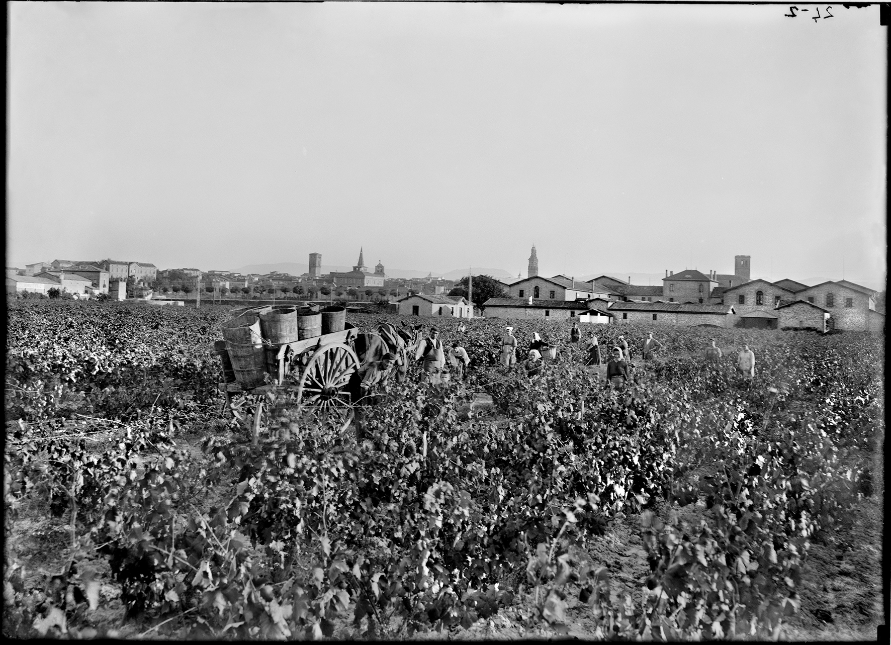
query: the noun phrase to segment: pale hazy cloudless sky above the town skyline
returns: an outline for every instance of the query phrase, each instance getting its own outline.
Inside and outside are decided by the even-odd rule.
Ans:
[[[878,5],[7,6],[7,265],[885,281]]]

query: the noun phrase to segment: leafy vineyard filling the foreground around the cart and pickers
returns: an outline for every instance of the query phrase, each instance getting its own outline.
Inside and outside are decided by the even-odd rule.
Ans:
[[[498,363],[504,321],[437,319],[470,355],[463,382],[412,365],[361,443],[272,391],[252,445],[221,413],[227,317],[8,302],[4,636],[874,639],[886,622],[881,337],[583,325],[569,343],[568,323],[512,321],[518,356],[534,331],[559,344],[529,380]],[[629,386],[584,367],[592,328],[636,350]],[[666,349],[644,362],[648,331]]]

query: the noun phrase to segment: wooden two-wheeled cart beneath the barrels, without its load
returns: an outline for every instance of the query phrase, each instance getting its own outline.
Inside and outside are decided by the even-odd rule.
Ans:
[[[259,431],[268,416],[267,397],[273,390],[295,394],[298,411],[305,419],[332,421],[346,429],[353,420],[347,384],[359,368],[353,341],[359,331],[345,325],[343,331],[282,345],[278,373],[272,382],[257,388],[241,388],[238,383],[221,383],[225,392],[224,412],[247,429],[257,444]]]

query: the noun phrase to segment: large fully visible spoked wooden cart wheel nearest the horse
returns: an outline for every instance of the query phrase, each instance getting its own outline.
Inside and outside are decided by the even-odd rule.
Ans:
[[[359,359],[351,347],[342,343],[320,347],[300,375],[298,406],[307,416],[347,429],[353,420],[347,383],[358,368]]]

